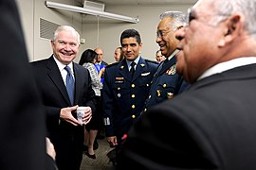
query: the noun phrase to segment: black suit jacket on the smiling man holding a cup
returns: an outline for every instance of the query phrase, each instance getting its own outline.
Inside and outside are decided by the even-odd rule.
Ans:
[[[32,68],[34,69],[40,93],[43,96],[48,132],[50,134],[58,132],[60,125],[69,125],[69,123],[62,120],[59,123],[60,110],[71,107],[63,77],[53,56],[48,59],[33,61],[31,64],[33,65]],[[75,75],[74,106],[89,106],[92,110],[95,110],[95,93],[91,87],[91,78],[88,70],[75,62],[73,62],[73,68]]]

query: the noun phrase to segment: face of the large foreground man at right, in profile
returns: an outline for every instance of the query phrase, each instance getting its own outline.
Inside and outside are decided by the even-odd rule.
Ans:
[[[213,25],[216,11],[209,1],[201,0],[189,13],[188,25],[177,30],[182,51],[177,55],[177,72],[193,83],[212,65],[219,62],[219,43],[223,37],[222,22]]]

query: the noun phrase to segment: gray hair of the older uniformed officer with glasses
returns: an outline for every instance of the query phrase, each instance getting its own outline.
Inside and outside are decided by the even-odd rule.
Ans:
[[[166,17],[173,19],[172,27],[174,30],[179,28],[180,26],[186,25],[186,15],[181,11],[177,11],[177,10],[166,11],[160,15],[161,20]]]

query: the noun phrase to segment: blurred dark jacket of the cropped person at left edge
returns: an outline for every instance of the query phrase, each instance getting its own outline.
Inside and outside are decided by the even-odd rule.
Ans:
[[[28,68],[20,15],[13,0],[0,0],[0,8],[0,169],[54,169],[47,166],[46,116]]]

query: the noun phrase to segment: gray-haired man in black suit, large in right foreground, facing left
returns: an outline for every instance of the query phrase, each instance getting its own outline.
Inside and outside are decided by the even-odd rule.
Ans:
[[[119,169],[256,169],[255,8],[256,0],[191,8],[176,38],[177,71],[192,86],[140,117]]]

